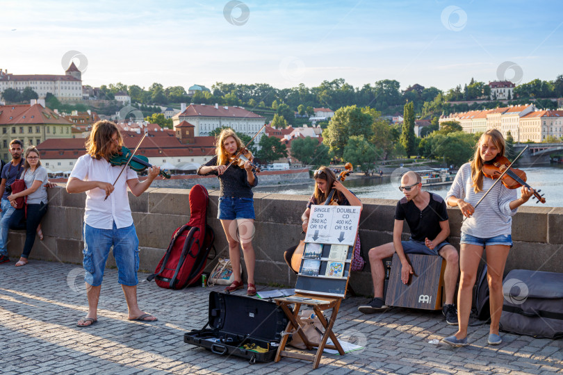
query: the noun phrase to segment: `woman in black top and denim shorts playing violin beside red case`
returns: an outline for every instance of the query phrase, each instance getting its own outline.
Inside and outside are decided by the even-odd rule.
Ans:
[[[220,197],[217,218],[220,219],[227,242],[229,242],[229,257],[233,266],[234,281],[225,290],[233,292],[244,287],[240,275],[240,247],[243,248],[246,271],[248,274],[247,294],[256,294],[254,285],[254,199],[252,188],[258,184],[258,178],[253,172],[252,156],[244,164],[232,163],[237,152],[244,147],[243,142],[231,128],[223,129],[217,138],[215,153],[209,162],[197,169],[197,174],[204,176],[215,174],[219,177]],[[239,167],[243,165],[243,167]],[[227,167],[228,166],[228,167]]]

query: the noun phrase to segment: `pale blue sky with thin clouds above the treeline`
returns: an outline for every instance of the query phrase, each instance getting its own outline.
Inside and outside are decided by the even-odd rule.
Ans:
[[[507,61],[516,67],[506,78],[521,82],[563,74],[561,1],[59,0],[0,10],[0,68],[61,74],[65,53],[79,51],[83,83],[95,86],[344,78],[448,90],[493,81]]]

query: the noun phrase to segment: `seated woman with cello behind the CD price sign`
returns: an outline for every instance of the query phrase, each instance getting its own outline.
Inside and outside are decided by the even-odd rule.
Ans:
[[[350,165],[350,170],[351,170]],[[346,173],[346,172],[343,172]],[[309,202],[307,203],[307,208],[305,209],[304,213],[301,215],[302,220],[302,228],[303,232],[307,232],[307,226],[309,226],[309,217],[311,215],[311,206],[313,205],[322,205],[322,204],[336,204],[338,206],[360,206],[362,207],[361,201],[358,197],[354,195],[353,192],[348,190],[338,179],[332,169],[329,167],[319,167],[316,170],[315,174],[313,174],[313,178],[315,179],[315,190],[313,191],[313,195],[309,198]],[[334,193],[331,194],[332,190],[334,189]],[[328,202],[327,199],[329,196],[332,195],[332,203]],[[300,244],[303,246],[303,243]],[[300,256],[302,256],[302,250],[304,248],[291,248],[285,251],[284,258],[286,263],[289,265],[293,272],[297,273],[297,263],[300,263]],[[296,262],[292,261],[295,260],[294,257],[297,257],[297,253],[300,254],[299,259]],[[294,255],[295,254],[295,255]],[[360,241],[359,236],[356,238],[356,244],[354,245],[354,260],[352,264],[353,270],[361,269],[364,267],[364,259],[361,258],[360,254]],[[292,266],[292,263],[295,263],[295,267]]]

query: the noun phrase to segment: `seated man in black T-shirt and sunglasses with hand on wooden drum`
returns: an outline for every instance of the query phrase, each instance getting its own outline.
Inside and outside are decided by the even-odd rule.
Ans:
[[[446,238],[450,235],[446,202],[437,194],[424,192],[421,176],[412,171],[402,176],[399,189],[405,194],[405,197],[397,202],[395,208],[393,242],[370,250],[374,298],[368,305],[359,306],[358,310],[364,314],[372,314],[377,310],[387,308],[383,300],[385,270],[382,260],[384,258],[389,258],[395,251],[397,252],[402,265],[401,281],[406,284],[413,272],[405,254],[439,255],[446,260],[446,270],[444,271],[446,303],[442,308],[442,313],[448,324],[457,325],[457,311],[453,304],[453,297],[458,273],[458,255],[457,250],[446,242]],[[402,226],[405,220],[411,229],[411,238],[408,241],[401,241]]]

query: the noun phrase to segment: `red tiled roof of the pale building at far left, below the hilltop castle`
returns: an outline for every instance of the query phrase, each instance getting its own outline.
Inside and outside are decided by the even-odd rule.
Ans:
[[[49,108],[43,108],[41,104],[0,106],[0,125],[25,124],[70,125],[72,122]]]

